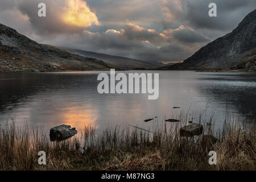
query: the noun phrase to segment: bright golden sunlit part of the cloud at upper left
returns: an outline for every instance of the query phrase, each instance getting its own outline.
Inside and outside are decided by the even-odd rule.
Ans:
[[[66,0],[63,20],[76,27],[90,27],[92,24],[100,25],[95,13],[82,0]]]

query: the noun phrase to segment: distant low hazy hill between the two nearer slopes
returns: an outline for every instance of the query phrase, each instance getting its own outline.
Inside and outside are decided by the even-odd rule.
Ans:
[[[159,63],[156,61],[141,61],[137,59],[131,59],[128,57],[106,55],[104,53],[82,51],[78,49],[72,49],[72,51],[75,51],[85,57],[93,57],[94,59],[102,60],[105,63],[112,64],[120,69],[136,69],[136,68],[152,69],[152,68],[158,68],[158,67],[164,66],[163,63]]]

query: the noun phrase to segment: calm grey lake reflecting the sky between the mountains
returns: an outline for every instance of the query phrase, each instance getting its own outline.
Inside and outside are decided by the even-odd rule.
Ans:
[[[158,117],[155,121],[162,122],[181,110],[196,122],[206,108],[205,118],[214,114],[220,126],[227,104],[234,115],[256,114],[255,73],[123,73],[142,72],[159,73],[158,100],[148,100],[147,94],[99,94],[101,72],[0,73],[0,122],[27,122],[47,130],[60,124],[82,130],[92,124],[102,131],[116,125],[147,128],[154,122],[144,119]]]

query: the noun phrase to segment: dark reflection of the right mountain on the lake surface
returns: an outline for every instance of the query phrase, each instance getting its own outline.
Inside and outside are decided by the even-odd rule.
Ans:
[[[252,112],[256,115],[256,74],[250,73],[219,73],[199,78],[208,82],[197,86],[205,96],[212,96],[223,104],[229,104],[239,114]]]

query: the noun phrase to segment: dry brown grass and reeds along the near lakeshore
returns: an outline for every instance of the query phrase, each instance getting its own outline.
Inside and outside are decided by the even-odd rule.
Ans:
[[[185,117],[180,126],[187,121]],[[200,122],[200,121],[199,121]],[[220,131],[204,125],[204,133],[217,142],[180,137],[177,126],[160,124],[154,133],[133,127],[106,128],[96,135],[87,126],[82,137],[50,142],[43,129],[29,130],[15,123],[0,127],[0,170],[255,170],[255,127],[226,119]],[[217,164],[209,165],[209,151],[217,152]],[[38,164],[45,151],[47,164]]]

